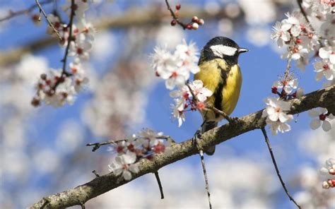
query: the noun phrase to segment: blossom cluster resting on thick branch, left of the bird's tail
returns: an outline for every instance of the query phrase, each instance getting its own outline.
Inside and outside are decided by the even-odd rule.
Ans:
[[[170,138],[163,137],[163,133],[155,133],[151,129],[143,129],[131,138],[118,141],[112,145],[110,150],[115,154],[112,163],[108,165],[110,172],[129,181],[131,174],[139,172],[136,162],[142,158],[152,160],[159,153],[172,154]]]

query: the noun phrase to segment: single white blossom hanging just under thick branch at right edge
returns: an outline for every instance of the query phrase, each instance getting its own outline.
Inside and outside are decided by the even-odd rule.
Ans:
[[[334,119],[334,116],[333,114],[328,114],[328,110],[326,108],[319,107],[318,109],[310,109],[308,111],[308,116],[315,118],[310,122],[311,129],[318,129],[319,126],[322,126],[324,131],[329,131],[331,129],[329,121]]]

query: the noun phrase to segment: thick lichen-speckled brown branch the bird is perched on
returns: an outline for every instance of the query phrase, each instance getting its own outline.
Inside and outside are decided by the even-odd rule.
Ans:
[[[305,112],[309,109],[316,107],[326,107],[327,109],[335,110],[335,85],[331,85],[328,88],[311,92],[307,95],[303,95],[297,99],[289,100],[291,109],[288,114],[298,114]],[[262,110],[248,114],[245,117],[241,117],[236,124],[225,124],[220,127],[216,127],[207,131],[201,135],[201,140],[198,142],[200,148],[208,148],[224,141],[228,141],[230,138],[239,136],[242,133],[247,133],[254,129],[261,129],[264,127],[265,119],[261,117]],[[194,147],[192,139],[183,141],[182,143],[172,143],[171,148],[173,150],[172,155],[157,155],[153,160],[140,160],[139,173],[134,174],[133,179],[139,178],[144,174],[153,173],[158,171],[161,167],[169,165],[178,160],[182,160],[191,155],[198,153],[198,149]],[[100,196],[102,193],[110,191],[127,184],[129,181],[124,180],[120,176],[114,174],[105,174],[100,177],[96,177],[92,181],[86,184],[76,186],[74,189],[62,191],[48,196],[49,208],[66,208],[73,205],[81,205],[86,203],[88,200]],[[41,199],[37,203],[30,206],[30,208],[40,208],[44,199]]]

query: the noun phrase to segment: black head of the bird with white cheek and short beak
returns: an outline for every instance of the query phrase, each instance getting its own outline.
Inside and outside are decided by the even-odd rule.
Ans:
[[[248,49],[241,48],[236,42],[228,37],[214,37],[209,40],[202,49],[200,61],[209,61],[211,59],[224,59],[228,64],[237,64],[238,56],[241,53],[248,52]]]

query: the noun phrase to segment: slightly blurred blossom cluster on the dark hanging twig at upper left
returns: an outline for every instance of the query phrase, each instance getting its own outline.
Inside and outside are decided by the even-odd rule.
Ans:
[[[67,11],[70,18],[72,13],[74,13],[77,25],[74,23],[66,25],[55,14],[47,16],[61,36],[59,44],[61,47],[66,47],[65,57],[62,60],[64,68],[58,70],[50,69],[48,75],[44,73],[40,76],[36,85],[37,94],[32,100],[34,106],[40,105],[42,101],[54,107],[62,106],[65,102],[72,104],[76,94],[83,89],[84,84],[88,83],[83,61],[89,59],[88,52],[92,48],[95,33],[93,25],[87,23],[85,18],[84,12],[88,9],[88,2],[76,0],[73,6],[68,2],[62,8]],[[50,25],[47,28],[47,34],[56,36]],[[74,57],[67,71],[66,56]]]

